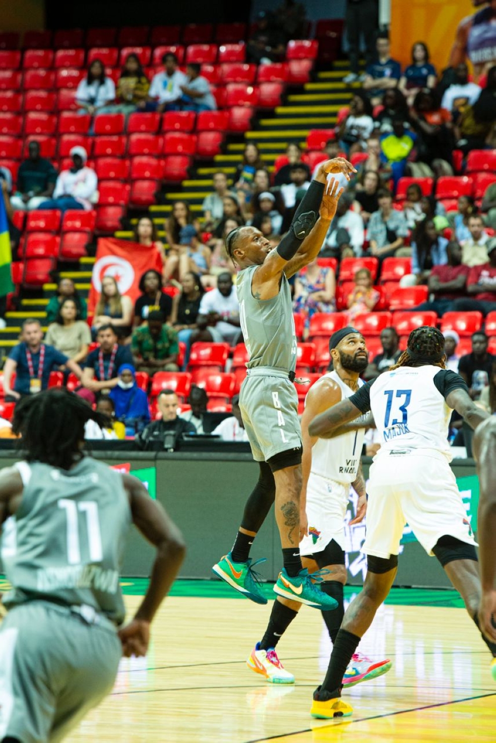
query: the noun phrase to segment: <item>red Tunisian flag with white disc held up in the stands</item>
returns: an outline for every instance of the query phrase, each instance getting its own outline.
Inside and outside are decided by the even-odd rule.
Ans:
[[[140,245],[129,240],[114,237],[101,237],[97,243],[97,260],[91,276],[91,289],[88,296],[88,314],[94,313],[104,276],[114,276],[119,291],[127,295],[134,305],[140,290],[138,284],[143,273],[148,270],[162,273],[162,259],[154,245]]]

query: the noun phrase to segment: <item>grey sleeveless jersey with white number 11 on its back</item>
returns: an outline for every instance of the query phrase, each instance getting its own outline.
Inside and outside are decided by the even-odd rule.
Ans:
[[[88,604],[121,623],[119,568],[131,510],[122,476],[84,457],[70,471],[19,462],[22,502],[4,524],[7,607],[34,598]]]

